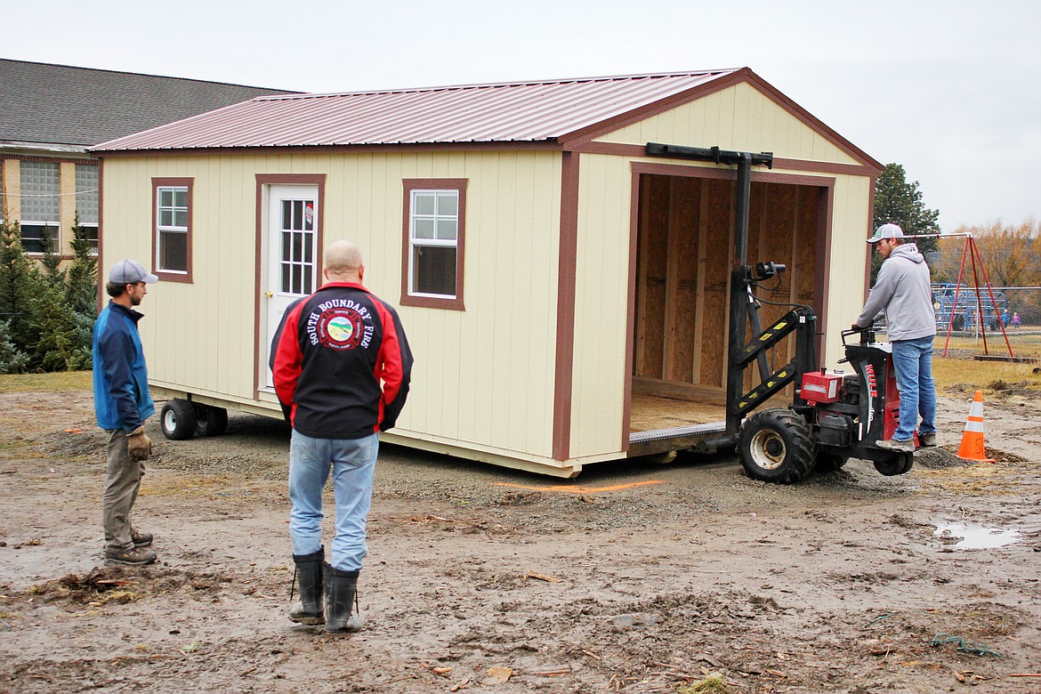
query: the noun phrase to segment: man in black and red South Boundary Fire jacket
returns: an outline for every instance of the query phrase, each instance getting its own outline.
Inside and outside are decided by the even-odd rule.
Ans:
[[[405,405],[412,353],[398,313],[362,286],[358,247],[332,243],[324,273],[328,282],[321,289],[286,309],[271,366],[293,425],[289,535],[301,600],[289,619],[341,634],[362,627],[352,607],[369,551],[365,522],[379,432],[395,426]],[[322,489],[330,470],[336,533],[326,563]]]

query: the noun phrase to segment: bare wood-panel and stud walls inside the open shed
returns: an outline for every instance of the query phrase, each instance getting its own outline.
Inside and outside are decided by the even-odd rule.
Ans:
[[[733,189],[727,180],[640,178],[635,377],[726,386]],[[753,184],[747,263],[787,266],[780,282],[763,283],[757,291],[762,299],[815,305],[818,196],[812,186]],[[770,325],[789,308],[763,304],[761,325]],[[792,349],[791,338],[779,344],[770,355],[771,369],[787,363]],[[747,387],[753,379],[750,368]]]

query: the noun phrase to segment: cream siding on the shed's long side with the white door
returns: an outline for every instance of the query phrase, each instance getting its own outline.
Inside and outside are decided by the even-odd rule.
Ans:
[[[150,377],[159,384],[253,400],[256,174],[326,174],[326,245],[355,240],[366,286],[395,306],[402,180],[467,179],[466,310],[399,309],[415,368],[396,433],[540,462],[552,456],[559,153],[106,159],[105,268],[121,257],[151,263],[151,179],[195,179],[194,282],[159,283],[142,307]]]

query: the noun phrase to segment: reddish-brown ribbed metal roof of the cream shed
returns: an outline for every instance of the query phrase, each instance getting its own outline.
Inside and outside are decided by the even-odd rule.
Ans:
[[[552,142],[734,72],[258,97],[92,149]]]

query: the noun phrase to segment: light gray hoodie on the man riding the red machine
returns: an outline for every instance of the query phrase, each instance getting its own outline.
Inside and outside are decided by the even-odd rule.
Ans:
[[[897,246],[882,263],[857,325],[867,328],[883,313],[889,326],[889,341],[936,335],[929,265],[914,243]]]

